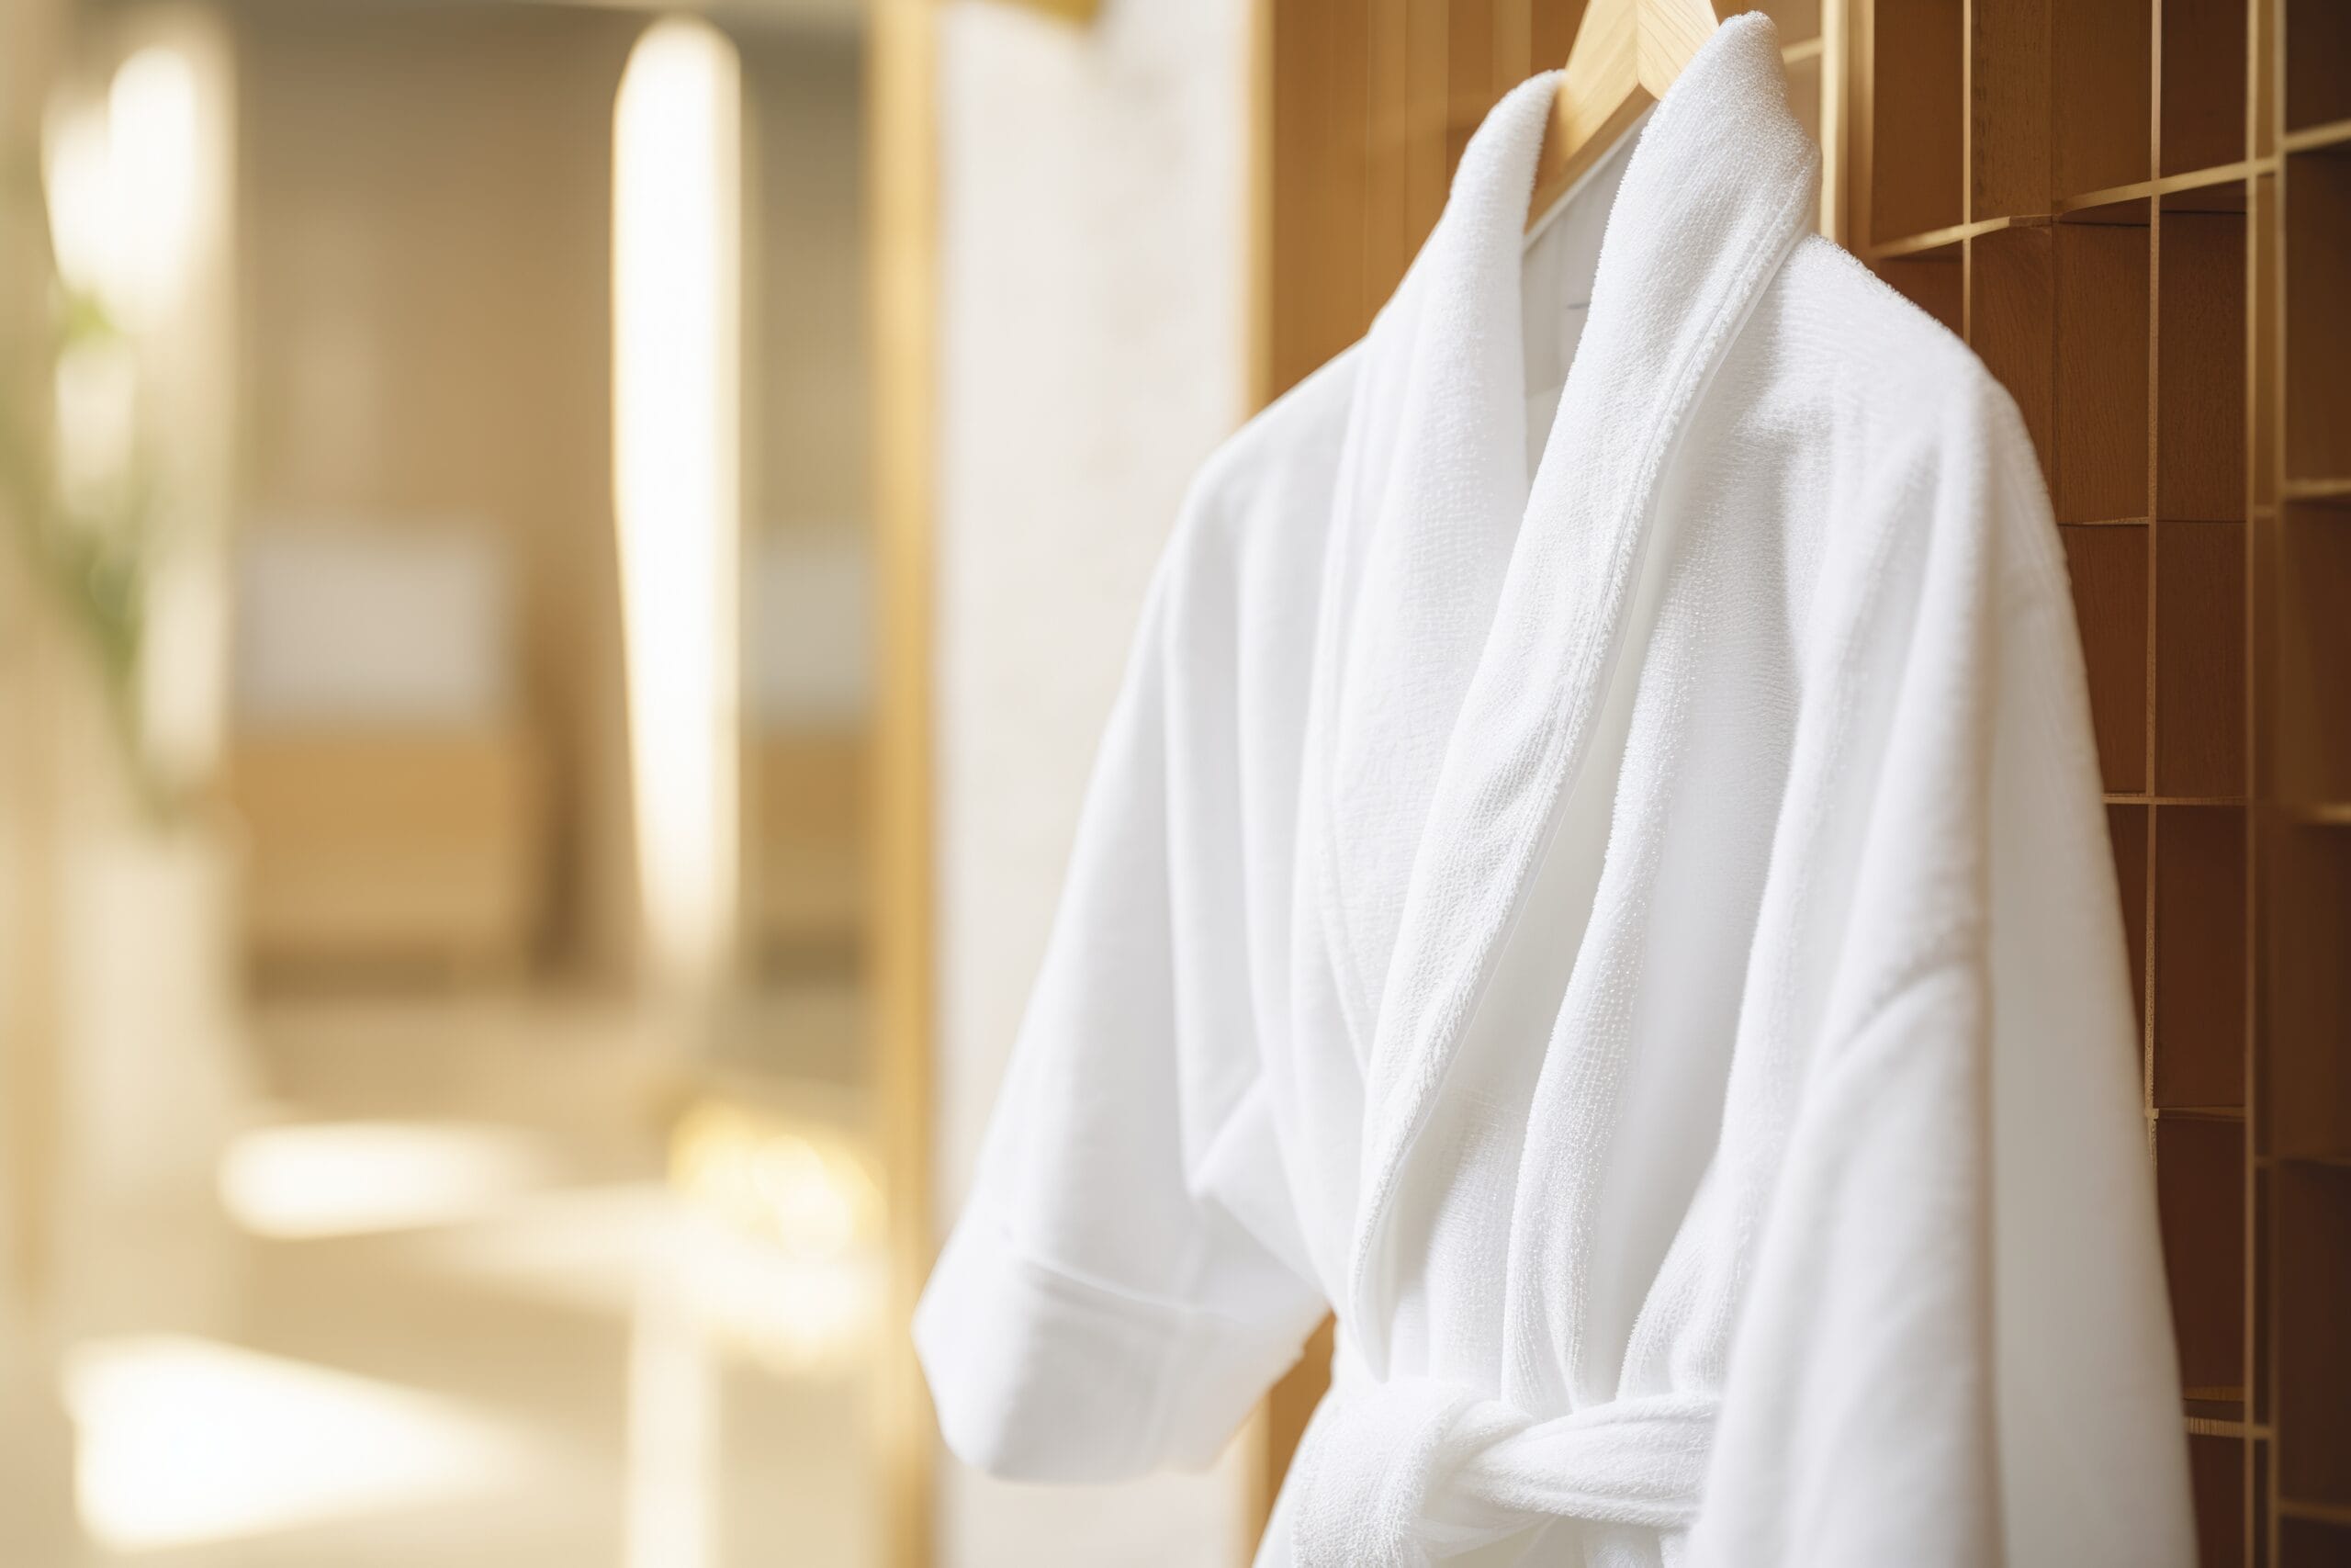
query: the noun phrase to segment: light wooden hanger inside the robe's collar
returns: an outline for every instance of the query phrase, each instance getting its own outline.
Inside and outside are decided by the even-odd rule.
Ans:
[[[1665,96],[1716,26],[1709,0],[1592,0],[1585,7],[1552,120],[1542,127],[1528,228]]]

